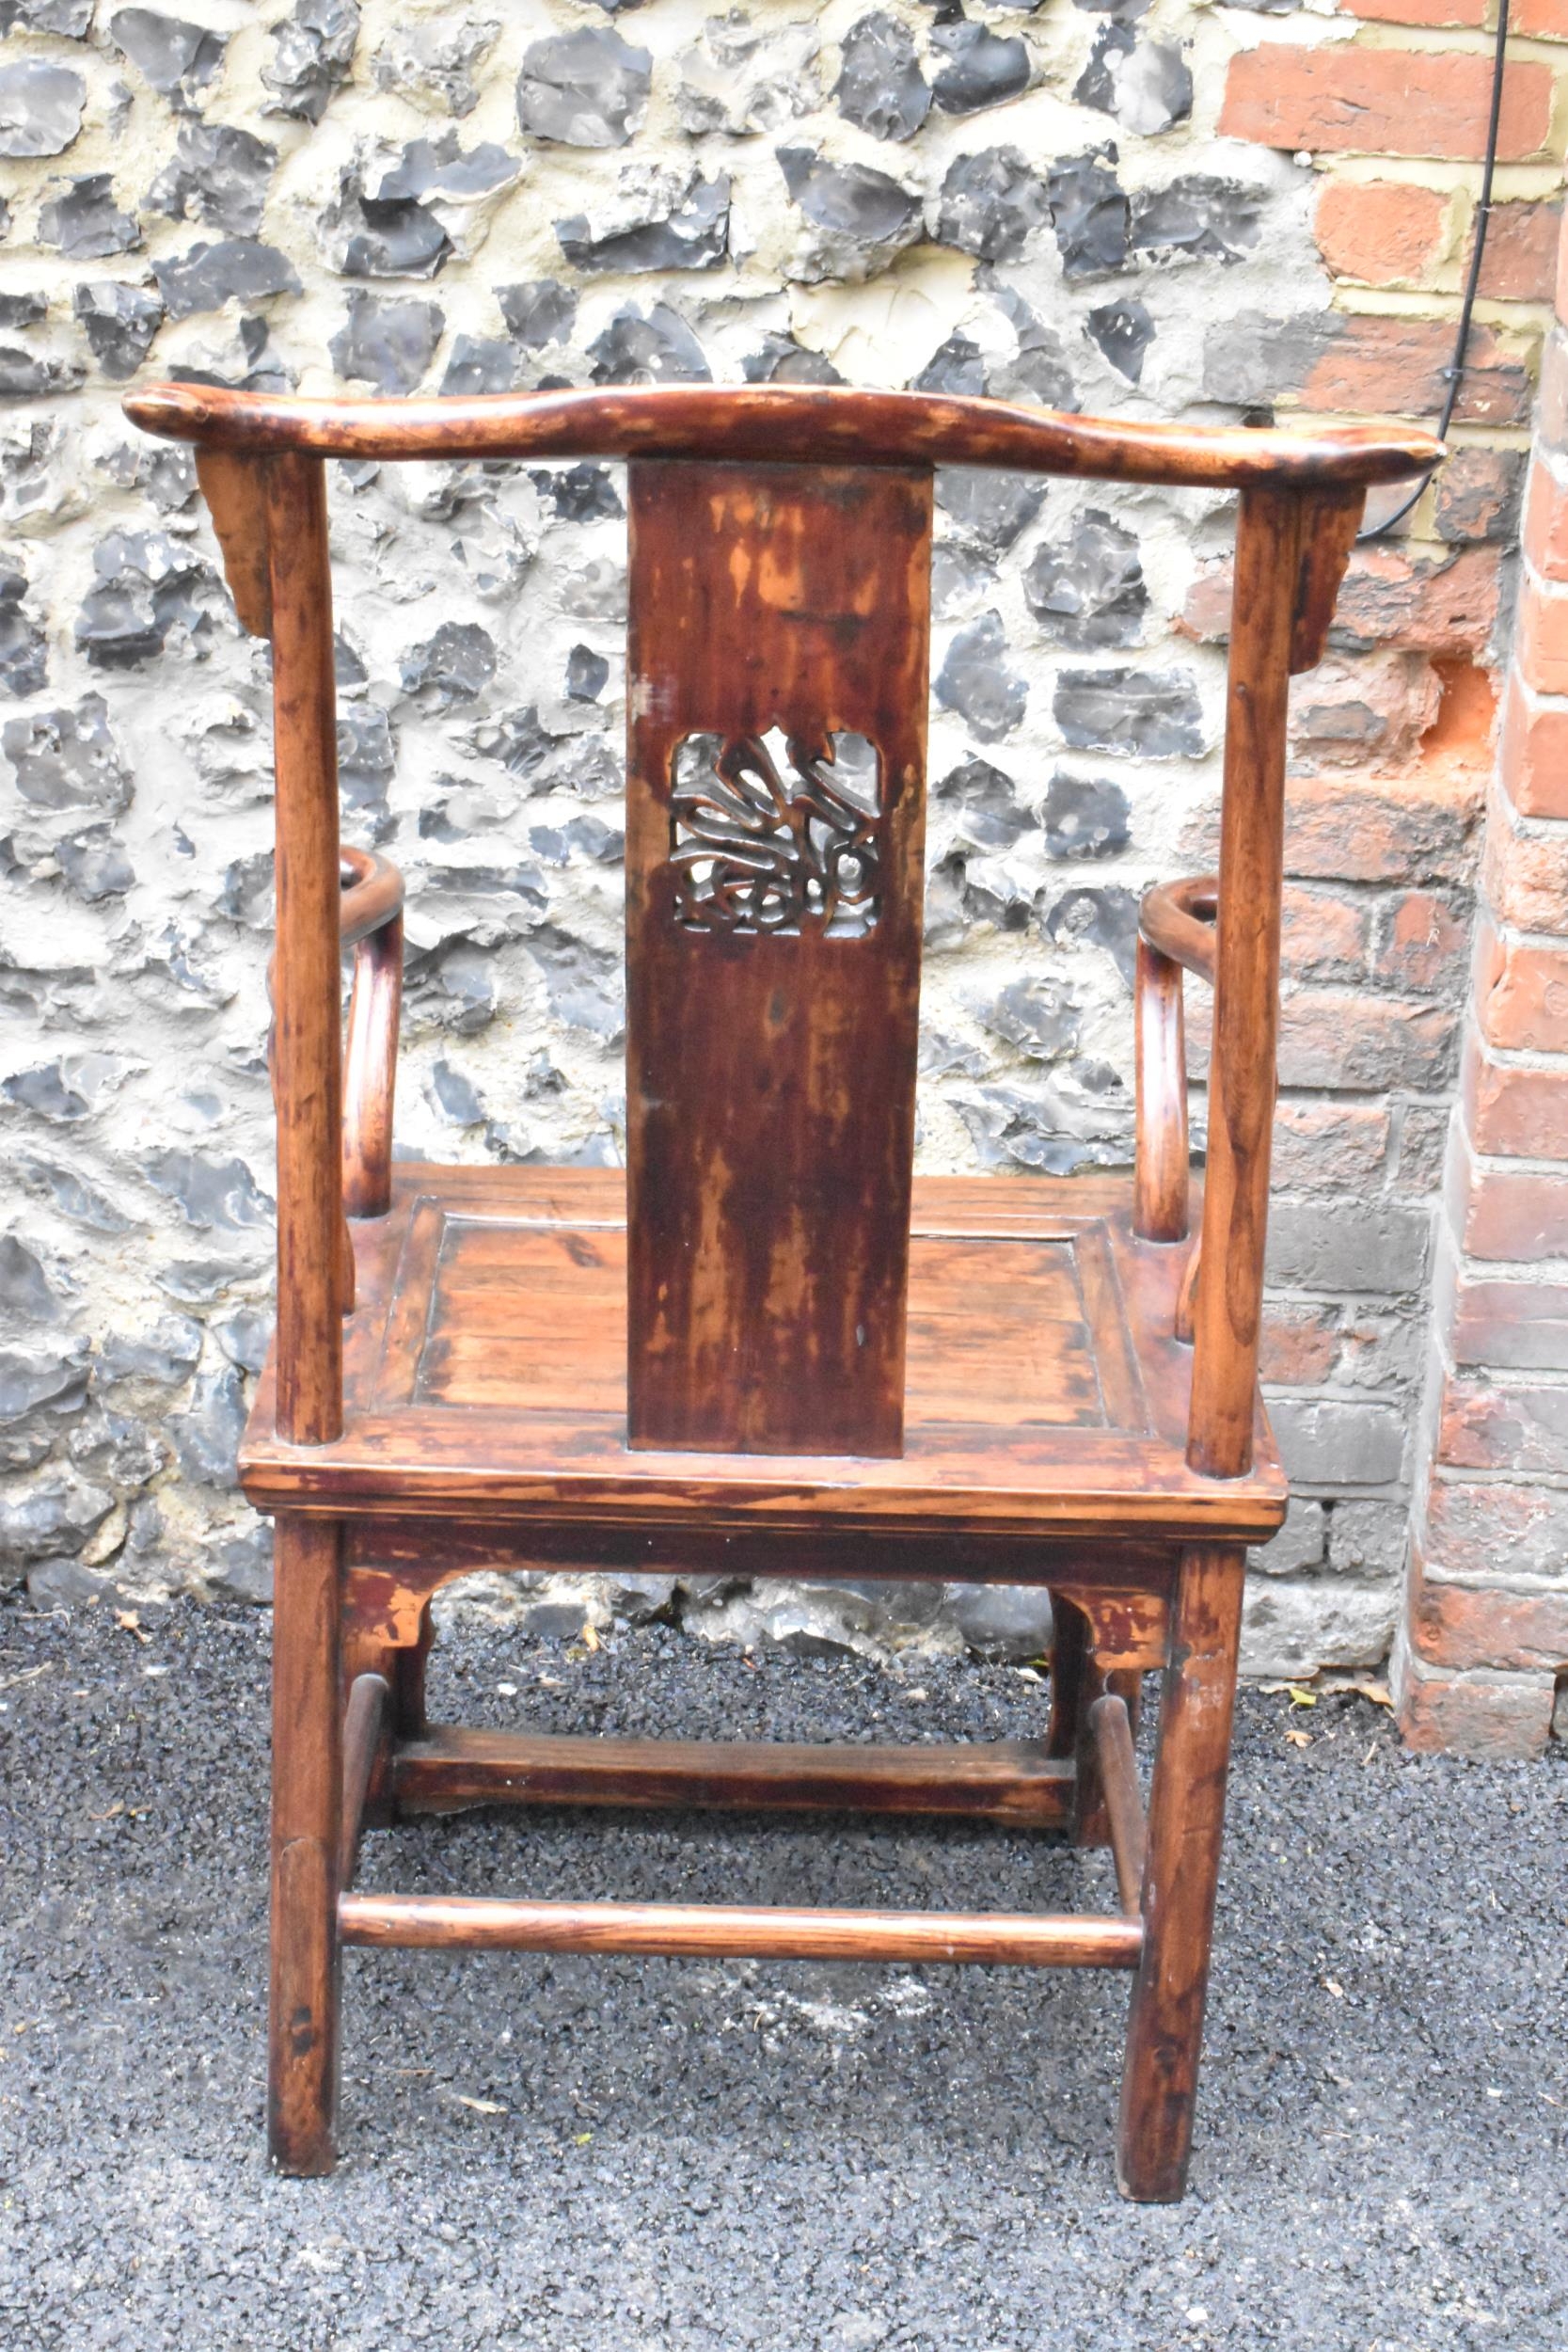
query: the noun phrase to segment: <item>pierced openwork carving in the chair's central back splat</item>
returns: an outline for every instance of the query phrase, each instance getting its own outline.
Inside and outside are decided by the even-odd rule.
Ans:
[[[785,771],[792,771],[785,783]],[[691,931],[865,938],[882,906],[882,764],[860,734],[686,736],[670,866]]]

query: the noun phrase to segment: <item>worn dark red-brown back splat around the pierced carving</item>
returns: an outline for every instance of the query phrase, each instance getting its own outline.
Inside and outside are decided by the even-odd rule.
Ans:
[[[931,475],[637,461],[628,510],[628,1444],[898,1454]],[[771,729],[877,746],[865,936],[682,915],[677,746]]]

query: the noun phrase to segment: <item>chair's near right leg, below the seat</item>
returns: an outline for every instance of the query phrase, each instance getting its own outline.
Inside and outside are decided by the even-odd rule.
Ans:
[[[1187,2187],[1244,1564],[1234,1548],[1185,1552],[1171,1613],[1117,2140],[1121,2194],[1140,2204],[1175,2204]]]

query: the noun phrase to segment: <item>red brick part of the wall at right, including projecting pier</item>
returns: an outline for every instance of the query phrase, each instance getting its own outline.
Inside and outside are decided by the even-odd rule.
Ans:
[[[1237,318],[1206,388],[1291,421],[1432,419],[1476,228],[1495,9],[1349,0],[1342,16],[1361,21],[1265,19],[1229,61],[1220,132],[1314,167],[1331,301]],[[1526,1750],[1568,1668],[1568,1265],[1559,1284],[1526,1270],[1568,1256],[1561,327],[1540,390],[1568,0],[1519,0],[1512,24],[1450,459],[1356,550],[1328,663],[1295,696],[1265,1369],[1300,1501],[1251,1616],[1255,1661],[1366,1656],[1403,1569],[1408,1733]],[[1509,670],[1537,407],[1542,452],[1563,454],[1528,470]],[[1220,588],[1194,595],[1197,635]],[[1321,1581],[1298,1583],[1302,1566]]]

